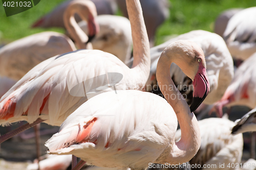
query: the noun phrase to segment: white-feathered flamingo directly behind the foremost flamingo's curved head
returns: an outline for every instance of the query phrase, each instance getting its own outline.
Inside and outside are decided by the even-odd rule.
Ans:
[[[233,78],[233,61],[224,40],[215,33],[203,30],[182,34],[151,48],[152,65],[145,90],[162,95],[156,80],[157,62],[164,48],[169,43],[177,40],[190,40],[201,46],[205,55],[206,71],[210,83],[210,92],[203,103],[211,105],[219,101]],[[131,60],[128,65],[131,65],[132,61],[133,60]],[[184,95],[187,103],[190,105],[193,96],[192,81],[183,74],[182,70],[176,64],[172,64],[170,67],[170,75],[176,86],[179,87],[180,92]]]

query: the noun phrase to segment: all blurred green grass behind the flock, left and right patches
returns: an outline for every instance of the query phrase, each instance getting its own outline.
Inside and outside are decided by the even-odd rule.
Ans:
[[[6,17],[0,1],[0,32],[2,41],[10,42],[42,31],[64,32],[63,29],[31,29],[34,21],[50,12],[63,0],[41,0],[25,12]],[[256,0],[170,0],[170,17],[157,31],[156,43],[164,42],[164,37],[183,34],[192,30],[213,31],[218,15],[229,8],[248,8],[256,6]],[[1,37],[1,36],[0,36]]]

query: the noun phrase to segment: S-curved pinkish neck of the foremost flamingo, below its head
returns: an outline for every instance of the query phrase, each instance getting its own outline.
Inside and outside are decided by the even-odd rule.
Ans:
[[[173,56],[172,58],[174,61],[180,57]],[[157,64],[157,81],[165,99],[176,113],[181,129],[181,139],[174,145],[170,144],[166,148],[167,151],[163,152],[165,154],[160,155],[156,163],[179,164],[187,162],[197,153],[201,144],[197,118],[194,113],[190,112],[189,106],[170,77],[169,69],[173,61],[170,61],[166,53],[161,55]],[[179,61],[177,60],[175,63],[178,65]],[[171,143],[174,142],[173,139]]]

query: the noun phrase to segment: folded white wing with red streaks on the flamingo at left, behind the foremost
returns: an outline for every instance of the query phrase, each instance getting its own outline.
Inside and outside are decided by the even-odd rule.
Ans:
[[[52,57],[30,70],[1,98],[0,123],[19,120],[33,123],[40,115],[42,119],[49,119],[46,123],[59,126],[88,98],[113,90],[108,88],[111,80],[106,81],[107,77],[87,83],[84,86],[86,94],[80,94],[83,89],[80,86],[73,92],[75,95],[71,95],[71,88],[108,72],[125,75],[123,66],[125,70],[126,66],[115,56],[97,50],[81,50]],[[126,87],[122,81],[116,83],[117,89]]]

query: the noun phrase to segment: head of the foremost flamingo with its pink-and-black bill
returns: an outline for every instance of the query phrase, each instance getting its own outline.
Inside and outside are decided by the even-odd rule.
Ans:
[[[206,73],[206,62],[202,48],[195,42],[179,40],[172,45],[177,55],[175,63],[193,81],[193,99],[190,111],[194,112],[206,98],[210,84]]]

